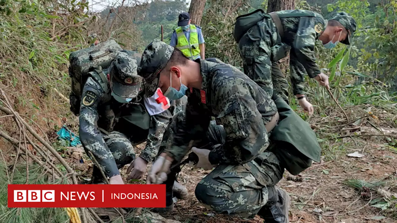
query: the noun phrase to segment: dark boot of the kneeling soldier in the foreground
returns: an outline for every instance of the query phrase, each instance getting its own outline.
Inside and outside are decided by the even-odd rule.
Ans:
[[[290,197],[288,192],[278,186],[268,186],[269,201],[263,206],[258,215],[266,223],[289,223],[288,211]]]

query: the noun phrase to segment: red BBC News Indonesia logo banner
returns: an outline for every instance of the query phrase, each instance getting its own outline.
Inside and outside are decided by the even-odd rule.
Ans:
[[[9,208],[165,208],[165,185],[8,185]]]

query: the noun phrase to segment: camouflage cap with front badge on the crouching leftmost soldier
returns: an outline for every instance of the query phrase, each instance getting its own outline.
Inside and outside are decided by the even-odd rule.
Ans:
[[[140,55],[137,52],[122,50],[110,66],[110,87],[114,94],[123,98],[135,98],[139,94],[142,77],[137,73]]]

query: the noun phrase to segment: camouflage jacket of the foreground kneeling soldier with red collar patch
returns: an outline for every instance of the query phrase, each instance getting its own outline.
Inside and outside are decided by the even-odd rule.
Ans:
[[[244,164],[254,160],[269,145],[265,124],[277,108],[262,88],[237,68],[198,59],[202,89],[187,90],[186,120],[177,126],[172,146],[165,152],[181,161],[190,140],[200,140],[211,116],[223,125],[225,144],[210,152],[210,162]]]

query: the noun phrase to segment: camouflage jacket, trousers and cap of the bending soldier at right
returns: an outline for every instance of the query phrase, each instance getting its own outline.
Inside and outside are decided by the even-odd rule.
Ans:
[[[253,79],[268,94],[283,98],[288,103],[288,82],[280,71],[277,61],[290,50],[290,77],[293,94],[305,94],[304,75],[310,78],[320,74],[314,53],[315,42],[326,28],[327,21],[308,10],[283,10],[280,17],[283,38],[270,16],[254,25],[239,40],[239,52],[243,58],[244,73]],[[352,34],[356,22],[346,13],[338,13],[332,19],[339,21]],[[342,41],[349,44],[349,40]]]

